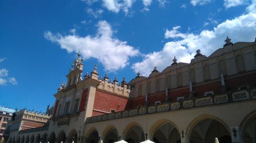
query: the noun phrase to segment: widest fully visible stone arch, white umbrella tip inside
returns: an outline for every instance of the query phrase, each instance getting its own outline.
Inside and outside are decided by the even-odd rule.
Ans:
[[[214,142],[215,137],[220,142],[231,143],[231,131],[220,119],[211,115],[201,115],[194,119],[186,130],[189,142]]]

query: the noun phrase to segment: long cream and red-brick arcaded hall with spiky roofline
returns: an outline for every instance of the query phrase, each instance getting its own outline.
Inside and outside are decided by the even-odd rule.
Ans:
[[[11,130],[8,143],[256,142],[256,39],[230,40],[208,57],[197,50],[189,64],[174,58],[120,83],[99,76],[97,65],[82,78],[78,53],[49,126]]]

